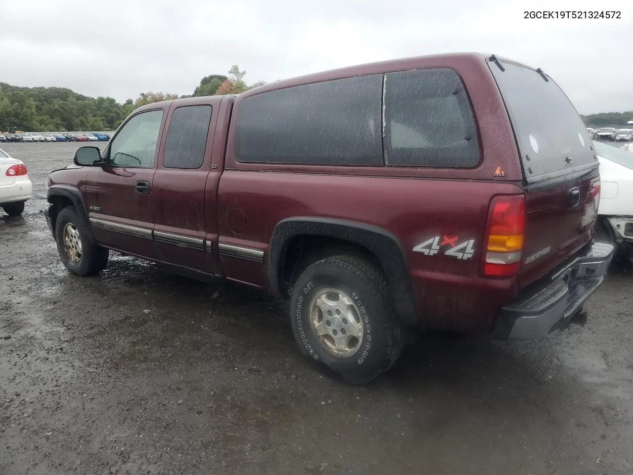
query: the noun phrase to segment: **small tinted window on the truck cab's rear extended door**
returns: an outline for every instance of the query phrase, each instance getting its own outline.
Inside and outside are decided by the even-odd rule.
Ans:
[[[163,153],[165,168],[202,166],[210,122],[211,106],[185,106],[173,111]]]

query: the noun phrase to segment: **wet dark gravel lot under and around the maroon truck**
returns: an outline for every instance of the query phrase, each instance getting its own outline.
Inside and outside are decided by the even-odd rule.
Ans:
[[[630,474],[633,276],[539,341],[427,334],[355,387],[301,357],[283,303],[111,256],[71,276],[42,210],[76,144],[3,144],[0,474]]]

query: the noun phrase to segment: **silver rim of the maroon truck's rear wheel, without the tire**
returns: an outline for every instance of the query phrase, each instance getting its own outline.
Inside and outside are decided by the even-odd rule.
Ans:
[[[335,358],[353,357],[363,341],[361,313],[349,295],[322,289],[310,302],[310,326],[322,348]]]

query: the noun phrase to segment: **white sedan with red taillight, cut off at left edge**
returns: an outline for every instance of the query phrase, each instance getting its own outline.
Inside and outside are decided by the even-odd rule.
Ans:
[[[0,148],[0,207],[9,216],[19,216],[32,193],[26,165]]]

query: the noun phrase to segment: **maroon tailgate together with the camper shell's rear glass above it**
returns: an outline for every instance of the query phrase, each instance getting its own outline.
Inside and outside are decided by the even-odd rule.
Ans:
[[[578,112],[548,75],[513,61],[488,65],[515,132],[525,182],[523,287],[591,240],[599,163]]]

